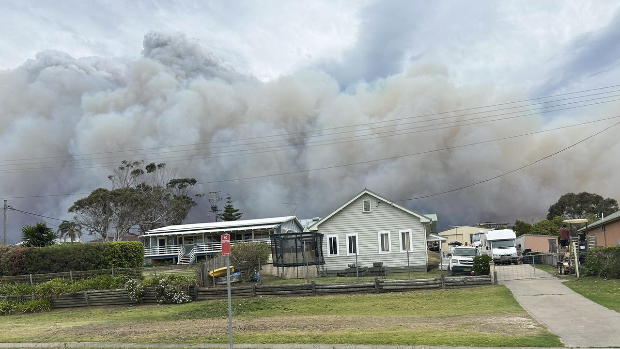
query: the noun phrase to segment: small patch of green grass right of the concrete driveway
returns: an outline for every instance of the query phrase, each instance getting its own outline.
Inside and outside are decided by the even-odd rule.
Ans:
[[[580,278],[564,284],[583,297],[620,312],[620,279]]]

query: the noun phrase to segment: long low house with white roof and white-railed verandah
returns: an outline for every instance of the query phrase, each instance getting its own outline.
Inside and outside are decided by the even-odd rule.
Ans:
[[[146,263],[174,261],[189,264],[221,252],[220,235],[229,233],[231,243],[270,243],[270,235],[302,232],[303,226],[294,215],[262,219],[169,225],[148,230],[141,235]]]

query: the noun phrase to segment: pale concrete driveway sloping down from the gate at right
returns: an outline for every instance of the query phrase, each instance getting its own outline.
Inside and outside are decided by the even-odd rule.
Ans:
[[[620,346],[620,313],[607,309],[557,278],[500,281],[536,320],[567,347]]]

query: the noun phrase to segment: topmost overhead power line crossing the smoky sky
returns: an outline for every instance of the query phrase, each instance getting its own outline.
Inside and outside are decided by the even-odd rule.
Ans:
[[[286,135],[306,134],[308,132],[322,132],[322,131],[325,131],[325,130],[335,130],[335,129],[343,129],[343,128],[346,128],[346,127],[358,127],[358,126],[371,125],[371,124],[380,124],[380,123],[384,123],[384,122],[393,122],[393,121],[405,120],[405,119],[413,119],[413,118],[418,118],[418,117],[438,116],[438,115],[449,114],[449,113],[453,113],[453,112],[472,111],[472,110],[476,110],[476,109],[484,109],[484,108],[487,108],[487,107],[496,107],[496,106],[505,106],[505,105],[508,105],[508,104],[516,104],[516,103],[520,103],[520,102],[539,101],[541,99],[547,99],[547,98],[551,98],[551,97],[567,96],[569,94],[577,94],[577,93],[584,93],[584,92],[590,92],[590,91],[598,91],[598,90],[601,90],[601,89],[615,88],[615,87],[618,87],[618,86],[620,86],[620,84],[611,85],[611,86],[605,86],[605,87],[601,87],[601,88],[585,89],[585,90],[582,90],[582,91],[574,91],[574,92],[570,92],[570,93],[555,94],[555,95],[545,96],[545,97],[536,97],[536,98],[531,98],[531,99],[522,99],[520,101],[503,102],[503,103],[498,103],[498,104],[490,104],[490,105],[487,105],[487,106],[470,107],[470,108],[465,108],[465,109],[456,109],[456,110],[453,110],[453,111],[436,112],[436,113],[432,113],[432,114],[423,114],[423,115],[412,116],[412,117],[403,117],[403,118],[399,118],[399,119],[379,120],[379,121],[367,122],[367,123],[363,123],[363,124],[342,125],[342,126],[338,126],[338,127],[329,127],[329,128],[325,128],[325,129],[314,129],[314,130],[305,130],[305,131],[299,131],[299,132],[289,132],[289,133],[286,133],[286,134],[265,135],[265,136],[256,136],[256,137],[246,137],[246,138],[236,138],[236,139],[231,139],[231,140],[220,140],[218,142],[238,142],[238,141],[241,141],[241,140],[252,140],[252,139],[271,138],[271,137],[283,137],[283,136],[286,136]],[[539,103],[536,103],[536,104],[549,103],[549,102],[557,102],[557,101],[565,101],[565,100],[568,100],[568,99],[577,99],[577,98],[582,98],[582,97],[595,96],[595,95],[606,94],[606,93],[613,93],[613,92],[618,92],[618,91],[620,91],[620,90],[613,90],[613,91],[606,91],[606,92],[601,92],[601,93],[587,94],[587,95],[583,95],[583,96],[575,96],[575,97],[569,97],[569,98],[565,98],[565,99],[557,99],[556,101],[539,102]],[[611,96],[608,96],[608,97],[611,97]],[[605,97],[602,97],[602,98],[605,98]],[[529,106],[533,106],[533,105],[535,105],[535,104],[530,104]],[[503,109],[496,109],[494,111],[501,111],[501,110],[506,110],[506,109],[520,108],[520,107],[528,107],[528,105],[526,105],[526,106],[514,106],[514,107],[503,108]],[[480,113],[484,113],[484,112],[492,112],[492,111],[481,111],[481,112],[476,112],[476,113],[472,113],[472,114],[480,114]],[[472,115],[472,114],[461,114],[460,116],[467,116],[467,115]],[[458,116],[453,116],[453,117],[458,117]],[[386,127],[389,127],[389,126],[386,126]],[[347,132],[355,132],[355,131],[347,131]],[[324,136],[324,135],[312,135],[312,136],[308,136],[308,137],[321,137],[321,136]],[[205,145],[205,144],[210,144],[210,143],[215,143],[215,142],[188,143],[188,144],[182,144],[182,145],[168,145],[168,146],[163,146],[163,147],[136,148],[136,149],[130,149],[130,150],[115,150],[115,151],[110,151],[110,152],[82,153],[82,154],[74,154],[74,155],[42,156],[42,157],[38,157],[38,158],[21,158],[21,159],[11,159],[11,160],[0,160],[0,162],[24,161],[24,160],[42,160],[42,159],[47,159],[47,158],[67,158],[67,157],[75,157],[75,156],[101,155],[101,154],[121,153],[121,152],[136,152],[136,151],[153,150],[153,149],[161,149],[161,148],[189,147],[189,146],[193,146],[193,145]],[[234,147],[234,146],[237,146],[237,145],[228,145],[228,146],[224,146],[224,147]],[[195,150],[195,149],[178,150],[177,152],[184,152],[184,151],[191,151],[191,150]],[[138,155],[144,155],[144,154],[138,154]],[[119,155],[119,156],[115,156],[115,157],[122,157],[122,156],[131,156],[131,155]],[[105,158],[107,158],[107,157],[105,157]],[[89,159],[79,159],[79,160],[89,160]]]

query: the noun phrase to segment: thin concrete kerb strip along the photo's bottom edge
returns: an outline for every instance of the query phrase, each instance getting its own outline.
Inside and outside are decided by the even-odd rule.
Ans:
[[[516,349],[508,347],[433,347],[428,345],[353,345],[353,344],[235,344],[238,349]],[[58,343],[0,343],[0,348],[195,348],[228,349],[228,344],[166,344],[166,343],[100,343],[100,342],[58,342]],[[525,348],[524,348],[525,349]],[[543,349],[543,348],[527,348]],[[544,348],[544,349],[566,349]],[[580,348],[588,349],[588,348]]]

